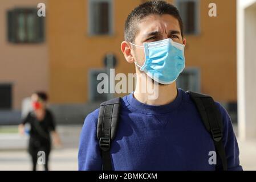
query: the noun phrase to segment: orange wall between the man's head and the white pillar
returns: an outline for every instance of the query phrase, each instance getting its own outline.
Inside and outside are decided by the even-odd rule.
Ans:
[[[201,92],[218,101],[236,101],[236,3],[234,0],[200,2],[201,32],[186,36],[186,65],[201,68]],[[217,5],[217,17],[208,16],[212,2]]]

